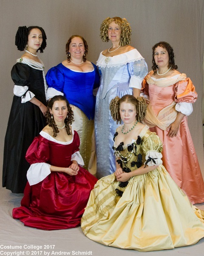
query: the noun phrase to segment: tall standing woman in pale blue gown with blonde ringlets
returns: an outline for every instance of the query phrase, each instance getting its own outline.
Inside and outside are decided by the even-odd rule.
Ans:
[[[130,44],[131,28],[125,18],[106,18],[101,24],[100,37],[111,41],[111,47],[100,53],[97,61],[102,79],[96,95],[95,133],[97,175],[99,178],[115,171],[113,134],[116,123],[111,119],[109,104],[115,96],[139,96],[141,83],[147,74],[142,55]]]

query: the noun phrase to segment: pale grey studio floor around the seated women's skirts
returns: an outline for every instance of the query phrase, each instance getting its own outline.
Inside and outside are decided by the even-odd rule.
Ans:
[[[135,250],[107,247],[89,240],[80,227],[69,230],[37,230],[12,218],[12,209],[20,206],[23,194],[0,188],[0,255],[93,255],[133,256]],[[204,204],[197,205],[204,209]],[[15,247],[17,246],[17,247]],[[22,248],[22,249],[21,249]],[[203,256],[204,239],[188,247],[144,253],[145,256]]]

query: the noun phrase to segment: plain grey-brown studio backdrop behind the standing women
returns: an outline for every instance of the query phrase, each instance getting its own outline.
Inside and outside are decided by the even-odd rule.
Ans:
[[[198,100],[189,117],[190,131],[204,174],[202,136],[204,1],[203,0],[0,0],[0,176],[3,144],[13,98],[10,71],[22,52],[14,44],[18,26],[42,26],[47,47],[40,58],[45,72],[66,58],[65,44],[71,35],[88,42],[88,60],[111,46],[99,37],[102,20],[125,17],[132,27],[131,45],[139,50],[151,70],[151,47],[170,43],[181,73],[193,81]],[[14,129],[17,127],[14,127]]]

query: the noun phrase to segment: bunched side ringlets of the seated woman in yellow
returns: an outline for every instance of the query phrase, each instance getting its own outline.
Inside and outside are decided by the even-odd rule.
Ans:
[[[111,116],[114,121],[121,124],[121,117],[120,117],[120,105],[122,102],[127,102],[130,104],[133,104],[136,107],[136,119],[139,122],[142,122],[146,115],[147,111],[147,103],[143,97],[137,97],[135,98],[133,95],[126,94],[122,96],[120,99],[118,96],[116,96],[114,99],[111,100],[109,109],[111,111]]]

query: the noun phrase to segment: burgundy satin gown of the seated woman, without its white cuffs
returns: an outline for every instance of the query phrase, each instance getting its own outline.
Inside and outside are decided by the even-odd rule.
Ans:
[[[36,137],[28,148],[26,160],[31,165],[48,163],[59,167],[70,166],[71,156],[79,151],[77,132],[74,131],[70,143],[64,145],[57,140],[49,140],[48,134],[46,138],[42,135]],[[51,172],[37,184],[26,184],[21,207],[13,209],[13,218],[20,219],[25,226],[42,230],[77,227],[96,181],[81,166],[76,176]]]

